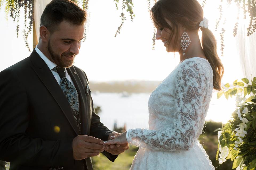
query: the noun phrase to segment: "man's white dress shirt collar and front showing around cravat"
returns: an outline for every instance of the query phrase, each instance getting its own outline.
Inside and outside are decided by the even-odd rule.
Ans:
[[[50,61],[38,48],[37,46],[35,47],[35,51],[38,53],[38,55],[43,59],[43,61],[45,61],[45,63],[47,64],[47,66],[49,67],[49,69],[53,69],[54,67],[57,66],[57,64],[55,64],[54,62]],[[51,70],[51,72],[53,73],[53,76],[55,77],[55,79],[57,80],[57,82],[60,84],[61,83],[61,78],[59,77],[59,74],[56,71]],[[71,80],[70,75],[67,73],[67,69],[65,68],[65,73],[66,73],[66,77],[67,79],[73,84],[73,81]]]

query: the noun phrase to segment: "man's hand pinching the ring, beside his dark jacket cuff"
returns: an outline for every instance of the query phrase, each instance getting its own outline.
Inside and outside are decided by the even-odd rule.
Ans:
[[[78,135],[75,137],[73,139],[72,147],[74,160],[82,160],[88,157],[97,156],[105,149],[101,139],[87,135]]]

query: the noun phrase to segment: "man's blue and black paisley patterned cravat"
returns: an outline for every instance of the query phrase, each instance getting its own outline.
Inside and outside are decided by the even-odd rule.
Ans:
[[[81,132],[81,116],[79,114],[79,100],[78,100],[78,93],[73,84],[67,79],[65,68],[60,68],[58,66],[52,69],[59,74],[61,78],[60,86],[69,101],[71,108],[73,109],[74,119],[77,123],[78,129]]]

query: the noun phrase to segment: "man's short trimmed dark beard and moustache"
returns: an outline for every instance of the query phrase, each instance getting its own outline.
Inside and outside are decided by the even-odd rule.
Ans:
[[[51,58],[53,59],[54,63],[57,64],[59,67],[69,68],[73,65],[74,59],[75,59],[74,53],[62,53],[61,56],[59,56],[58,54],[54,53],[53,50],[51,49],[50,40],[48,41],[47,49],[48,49],[48,52],[50,53]],[[74,58],[73,58],[73,60],[66,60],[65,56],[63,56],[63,55],[65,55],[65,56],[73,56],[74,55]]]

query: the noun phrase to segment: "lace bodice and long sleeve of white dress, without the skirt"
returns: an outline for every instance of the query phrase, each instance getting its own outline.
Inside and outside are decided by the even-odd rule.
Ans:
[[[158,151],[188,150],[202,133],[213,90],[207,60],[181,62],[149,98],[149,129],[129,129],[131,144]]]

